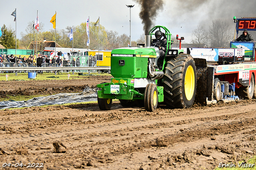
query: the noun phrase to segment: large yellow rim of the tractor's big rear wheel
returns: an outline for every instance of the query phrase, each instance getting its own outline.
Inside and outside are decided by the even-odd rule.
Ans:
[[[185,95],[188,101],[190,101],[194,95],[194,88],[195,88],[195,74],[194,69],[190,65],[185,73],[185,82],[184,82],[184,89]]]

